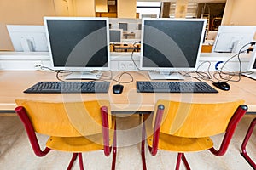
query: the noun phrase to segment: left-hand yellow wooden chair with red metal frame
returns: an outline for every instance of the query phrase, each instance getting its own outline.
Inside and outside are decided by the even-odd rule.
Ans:
[[[104,150],[105,156],[109,156],[113,148],[112,169],[115,169],[115,119],[108,101],[49,103],[17,99],[16,104],[19,106],[15,112],[37,156],[45,156],[50,150],[73,152],[67,169],[73,167],[77,156],[80,169],[84,169],[82,152]],[[36,133],[49,136],[44,150]]]

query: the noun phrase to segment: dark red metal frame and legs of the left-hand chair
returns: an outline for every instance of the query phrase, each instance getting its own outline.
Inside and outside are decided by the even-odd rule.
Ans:
[[[51,149],[45,147],[44,150],[41,150],[40,145],[38,144],[38,138],[35,133],[34,127],[32,126],[32,122],[30,121],[29,117],[26,114],[26,110],[22,106],[18,106],[15,108],[15,112],[20,116],[21,122],[23,122],[26,128],[26,134],[29,138],[29,141],[32,145],[32,150],[36,154],[36,156],[42,157],[49,153]],[[103,143],[104,143],[104,154],[105,156],[109,156],[112,150],[112,146],[109,146],[109,134],[108,134],[108,108],[106,106],[102,106],[102,133],[103,133]],[[114,134],[113,134],[113,160],[112,160],[112,170],[115,169],[115,162],[116,162],[116,154],[117,154],[117,147],[116,147],[116,126],[114,127]],[[79,167],[81,170],[84,170],[83,164],[83,157],[82,153],[73,153],[71,161],[67,167],[67,170],[71,170],[73,167],[73,162],[79,156]]]

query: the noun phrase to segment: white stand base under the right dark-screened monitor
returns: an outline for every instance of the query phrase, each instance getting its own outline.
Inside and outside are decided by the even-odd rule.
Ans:
[[[148,75],[151,80],[184,80],[184,77],[178,72],[148,71]]]

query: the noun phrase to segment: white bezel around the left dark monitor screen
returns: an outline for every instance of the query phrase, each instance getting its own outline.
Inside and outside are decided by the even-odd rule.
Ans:
[[[52,55],[52,49],[49,41],[49,31],[48,31],[48,25],[47,20],[104,20],[106,21],[106,35],[107,35],[107,58],[108,58],[108,66],[99,66],[99,67],[71,67],[71,66],[55,66],[54,65],[54,59]],[[106,17],[44,17],[44,26],[46,30],[46,37],[49,47],[49,55],[50,55],[50,62],[51,67],[54,70],[67,70],[67,71],[80,71],[80,72],[86,72],[86,71],[109,71],[110,70],[110,43],[109,43],[109,20]]]

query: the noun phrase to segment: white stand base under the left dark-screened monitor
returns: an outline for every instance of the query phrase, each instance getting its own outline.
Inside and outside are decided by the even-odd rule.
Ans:
[[[101,71],[73,72],[65,77],[65,80],[97,80],[102,77]]]

